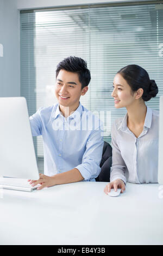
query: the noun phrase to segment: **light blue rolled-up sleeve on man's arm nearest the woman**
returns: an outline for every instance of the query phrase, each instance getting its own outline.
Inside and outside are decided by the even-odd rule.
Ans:
[[[103,152],[103,137],[102,130],[99,129],[94,130],[86,143],[86,150],[83,155],[82,163],[76,166],[75,168],[79,170],[82,174],[84,180],[90,180],[92,178],[96,178],[101,172],[101,168],[99,164],[102,159]]]

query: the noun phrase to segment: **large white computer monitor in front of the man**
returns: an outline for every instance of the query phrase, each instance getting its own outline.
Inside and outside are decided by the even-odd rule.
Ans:
[[[26,99],[0,97],[0,109],[0,175],[38,180]]]

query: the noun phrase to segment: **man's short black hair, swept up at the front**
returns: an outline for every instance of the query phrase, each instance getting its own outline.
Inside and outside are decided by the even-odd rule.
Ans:
[[[62,60],[57,65],[56,78],[61,69],[64,69],[69,72],[77,73],[79,77],[79,82],[82,83],[82,89],[85,86],[89,85],[89,82],[91,80],[91,74],[90,74],[90,70],[87,69],[87,64],[84,59],[70,56]]]

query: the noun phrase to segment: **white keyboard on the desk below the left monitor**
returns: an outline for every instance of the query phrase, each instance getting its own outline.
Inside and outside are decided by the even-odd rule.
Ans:
[[[0,188],[5,188],[8,190],[21,190],[32,192],[35,188],[40,185],[32,187],[26,179],[16,179],[16,178],[0,178]]]

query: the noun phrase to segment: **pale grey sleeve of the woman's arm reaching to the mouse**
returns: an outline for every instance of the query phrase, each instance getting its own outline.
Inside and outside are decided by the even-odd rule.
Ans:
[[[110,182],[121,179],[126,184],[126,164],[122,158],[121,151],[116,143],[117,128],[116,125],[112,125],[111,129],[111,145],[112,145],[112,166],[110,168]]]

